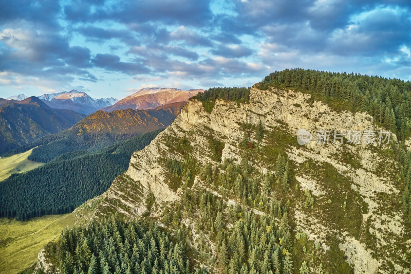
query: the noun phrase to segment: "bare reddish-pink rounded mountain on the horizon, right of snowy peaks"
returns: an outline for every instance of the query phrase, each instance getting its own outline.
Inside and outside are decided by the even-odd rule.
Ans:
[[[102,111],[111,112],[117,109],[153,109],[162,105],[187,102],[191,97],[203,89],[181,90],[178,88],[148,87],[127,96],[114,105],[102,108]]]

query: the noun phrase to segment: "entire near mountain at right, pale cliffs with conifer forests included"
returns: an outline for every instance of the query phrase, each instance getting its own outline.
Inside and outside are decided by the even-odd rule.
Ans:
[[[326,75],[341,77],[341,85],[367,83],[380,96],[393,85],[401,90],[402,108],[410,92],[408,82],[397,80],[288,71],[278,73],[295,73],[296,79],[309,74],[311,82],[326,81],[326,90],[333,83],[322,80]],[[212,88],[193,97],[150,146],[133,154],[128,170],[104,194],[76,210],[80,225],[46,247],[54,267],[136,274],[406,272],[409,118],[370,116],[366,104],[344,99],[342,87],[338,95],[323,95],[317,87],[267,79],[252,88]],[[384,98],[373,101],[382,108],[392,100],[397,108],[391,92]],[[298,144],[298,129],[315,134],[328,127],[391,130],[399,138],[392,135],[381,145],[315,138]],[[150,241],[141,244],[136,227],[161,231],[165,238],[148,233]],[[166,238],[173,251],[161,261],[156,254]]]

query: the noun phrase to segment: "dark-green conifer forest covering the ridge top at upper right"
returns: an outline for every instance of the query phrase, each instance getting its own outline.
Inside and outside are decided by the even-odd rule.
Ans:
[[[386,129],[396,133],[400,140],[410,135],[409,81],[295,68],[275,71],[258,86],[260,89],[268,89],[270,86],[294,88],[326,103],[338,103],[340,108],[352,112],[367,112]]]

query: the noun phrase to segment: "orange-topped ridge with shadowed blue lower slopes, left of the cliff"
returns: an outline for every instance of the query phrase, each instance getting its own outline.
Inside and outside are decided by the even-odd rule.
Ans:
[[[119,109],[110,113],[98,111],[79,121],[71,129],[46,136],[21,150],[37,147],[29,160],[38,162],[48,162],[68,152],[96,151],[136,135],[164,129],[174,121],[184,103],[159,109]]]

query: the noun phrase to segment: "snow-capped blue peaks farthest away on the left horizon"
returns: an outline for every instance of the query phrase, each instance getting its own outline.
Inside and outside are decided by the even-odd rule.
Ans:
[[[7,99],[21,101],[27,97],[24,94],[12,96]],[[50,93],[38,96],[45,104],[52,108],[71,109],[72,111],[91,114],[102,107],[107,107],[115,104],[118,100],[116,98],[91,98],[84,92],[79,92],[75,89],[70,92]]]

